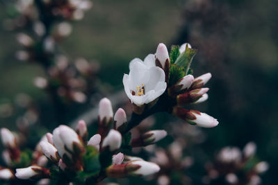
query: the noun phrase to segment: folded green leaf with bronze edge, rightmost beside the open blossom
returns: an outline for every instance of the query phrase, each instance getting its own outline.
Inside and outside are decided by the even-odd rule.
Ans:
[[[188,46],[186,46],[186,51],[181,53],[179,57],[177,58],[176,62],[174,64],[177,64],[178,67],[184,67],[186,74],[188,73],[188,70],[190,69],[190,64],[193,60],[194,55],[196,54],[197,50],[190,49]]]

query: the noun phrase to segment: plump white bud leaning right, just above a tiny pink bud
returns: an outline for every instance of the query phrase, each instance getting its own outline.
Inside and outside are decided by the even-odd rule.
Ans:
[[[102,143],[102,148],[108,147],[111,152],[120,148],[122,144],[122,135],[117,130],[110,130]]]

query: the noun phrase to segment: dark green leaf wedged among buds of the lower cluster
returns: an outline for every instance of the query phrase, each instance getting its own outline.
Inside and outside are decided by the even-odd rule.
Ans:
[[[84,171],[94,175],[99,173],[101,164],[99,162],[99,152],[92,146],[86,147],[85,155],[83,155]]]

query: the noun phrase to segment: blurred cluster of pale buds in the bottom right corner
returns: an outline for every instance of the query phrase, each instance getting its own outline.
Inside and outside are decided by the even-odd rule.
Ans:
[[[253,142],[247,143],[243,150],[237,147],[222,148],[215,161],[206,164],[208,175],[203,178],[204,182],[213,184],[224,179],[228,184],[261,184],[260,175],[269,166],[266,161],[258,161],[255,152],[256,144]]]

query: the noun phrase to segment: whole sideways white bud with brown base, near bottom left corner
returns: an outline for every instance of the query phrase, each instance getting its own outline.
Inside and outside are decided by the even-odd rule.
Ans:
[[[29,166],[28,168],[17,168],[15,177],[19,179],[33,179],[49,177],[49,169],[40,166]]]

